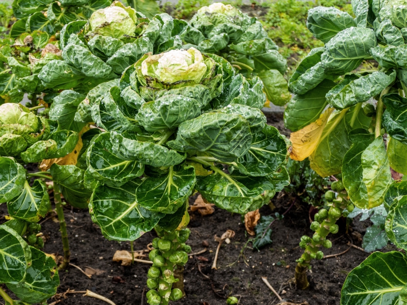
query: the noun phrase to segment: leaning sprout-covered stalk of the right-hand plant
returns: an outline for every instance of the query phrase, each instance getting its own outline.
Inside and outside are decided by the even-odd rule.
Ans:
[[[321,246],[331,248],[332,243],[326,239],[329,233],[338,232],[337,220],[342,216],[343,211],[347,208],[353,210],[353,204],[348,200],[347,193],[341,180],[332,182],[331,188],[337,192],[328,191],[325,195],[329,210],[321,209],[315,214],[315,221],[311,224],[311,230],[315,231],[312,238],[304,235],[301,237],[300,247],[305,249],[302,256],[297,260],[296,266],[296,284],[298,289],[306,289],[309,286],[307,279],[307,270],[310,267],[312,259],[323,259],[324,253],[319,250]]]

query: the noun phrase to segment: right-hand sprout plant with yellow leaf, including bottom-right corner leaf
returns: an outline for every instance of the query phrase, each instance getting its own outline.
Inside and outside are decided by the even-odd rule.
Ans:
[[[387,235],[405,249],[404,181],[392,181],[390,166],[407,173],[407,6],[391,0],[354,0],[352,6],[356,18],[335,8],[309,10],[307,27],[325,46],[311,50],[288,82],[296,95],[284,113],[285,126],[293,131],[291,158],[308,157],[323,177],[340,174],[326,194],[329,211],[319,210],[313,237],[302,238],[299,288],[308,286],[301,273],[312,258],[322,258],[321,246],[330,247],[326,235],[337,231],[345,208],[384,204]],[[348,275],[341,304],[404,303],[405,261],[398,252],[369,256]]]

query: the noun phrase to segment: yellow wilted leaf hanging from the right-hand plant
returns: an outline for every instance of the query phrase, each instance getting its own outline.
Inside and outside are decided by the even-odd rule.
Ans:
[[[334,111],[334,108],[328,108],[316,121],[290,135],[289,140],[293,146],[290,153],[291,159],[303,161],[313,153],[332,111]]]

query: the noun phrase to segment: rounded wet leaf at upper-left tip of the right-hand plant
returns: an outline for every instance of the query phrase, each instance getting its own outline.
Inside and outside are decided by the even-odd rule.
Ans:
[[[316,7],[308,11],[309,32],[323,43],[327,43],[337,33],[351,26],[356,26],[352,16],[337,8]]]

